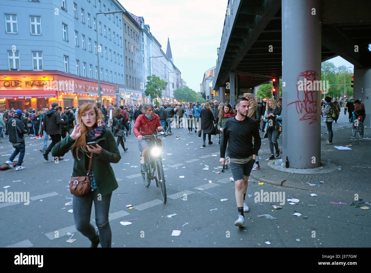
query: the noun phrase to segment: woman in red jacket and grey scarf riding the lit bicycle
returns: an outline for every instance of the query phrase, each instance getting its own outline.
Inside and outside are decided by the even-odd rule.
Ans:
[[[142,113],[137,117],[135,120],[134,125],[134,134],[138,139],[138,146],[139,150],[142,153],[143,161],[142,170],[147,171],[147,162],[149,147],[151,146],[151,142],[148,139],[143,139],[144,136],[151,136],[152,134],[157,134],[157,132],[162,131],[160,118],[154,114],[153,106],[150,104],[144,104],[142,107]],[[158,140],[161,142],[161,140]],[[161,143],[160,143],[161,145]]]

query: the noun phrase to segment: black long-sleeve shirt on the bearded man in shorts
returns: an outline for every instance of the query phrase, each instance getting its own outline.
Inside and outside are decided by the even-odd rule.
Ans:
[[[254,137],[254,145],[252,143]],[[254,119],[246,117],[244,120],[236,120],[231,117],[226,120],[223,127],[223,135],[220,142],[220,157],[224,158],[228,142],[230,158],[247,158],[257,155],[262,140],[259,135],[259,128]]]

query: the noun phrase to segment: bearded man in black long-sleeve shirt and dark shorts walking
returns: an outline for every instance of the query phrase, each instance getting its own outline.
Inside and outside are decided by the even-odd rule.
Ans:
[[[244,226],[243,212],[248,212],[249,207],[244,202],[247,191],[247,180],[255,163],[256,155],[262,141],[259,135],[259,128],[254,119],[247,117],[249,113],[249,101],[241,98],[236,103],[237,115],[228,118],[223,127],[223,135],[220,143],[220,163],[225,164],[225,153],[228,143],[230,168],[236,188],[236,203],[238,219],[234,225]],[[252,143],[254,137],[254,145]]]

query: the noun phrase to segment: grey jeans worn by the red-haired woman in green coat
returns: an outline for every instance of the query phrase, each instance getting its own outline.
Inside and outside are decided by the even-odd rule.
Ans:
[[[90,215],[92,211],[92,204],[94,201],[95,208],[95,224],[99,230],[99,241],[102,247],[111,247],[112,233],[108,221],[109,205],[111,204],[112,192],[110,194],[101,196],[99,189],[89,191],[83,196],[73,195],[73,218],[75,226],[82,235],[89,238],[91,241],[97,240],[95,228],[90,223]],[[102,200],[100,200],[102,199]]]

